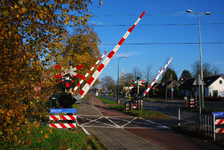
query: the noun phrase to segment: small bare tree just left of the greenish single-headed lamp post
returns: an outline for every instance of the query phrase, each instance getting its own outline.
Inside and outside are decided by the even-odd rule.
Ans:
[[[107,89],[107,92],[114,90],[116,87],[115,81],[111,76],[105,76],[102,78],[101,85],[103,89]]]

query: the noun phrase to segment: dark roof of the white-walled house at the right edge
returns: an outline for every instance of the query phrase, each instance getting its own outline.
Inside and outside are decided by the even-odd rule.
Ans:
[[[213,82],[215,82],[221,76],[210,76],[204,77],[205,86],[210,86]],[[181,86],[179,86],[180,90],[189,90],[192,88],[193,82],[195,78],[191,78],[186,80]]]

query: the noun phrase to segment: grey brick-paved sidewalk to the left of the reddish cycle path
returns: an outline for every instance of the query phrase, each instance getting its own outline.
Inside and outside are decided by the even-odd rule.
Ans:
[[[93,105],[93,103],[95,105]],[[96,109],[97,108],[97,109]],[[99,109],[99,110],[98,110]],[[101,111],[101,112],[100,112]],[[95,96],[88,97],[79,105],[78,116],[128,116],[122,112],[105,107],[102,101]],[[162,150],[154,145],[122,128],[85,128],[90,134],[97,135],[109,150]]]

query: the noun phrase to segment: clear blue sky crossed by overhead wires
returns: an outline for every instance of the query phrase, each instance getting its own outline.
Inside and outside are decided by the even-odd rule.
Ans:
[[[224,73],[224,0],[92,0],[89,10],[95,17],[94,31],[102,43],[101,54],[109,54],[126,31],[145,11],[141,21],[121,45],[99,79],[111,76],[115,81],[123,70],[131,73],[134,67],[146,71],[152,66],[156,77],[167,60],[179,78],[184,70],[192,72],[192,64],[200,61],[198,15],[200,14],[202,61],[210,63]],[[71,29],[70,29],[71,31]]]

